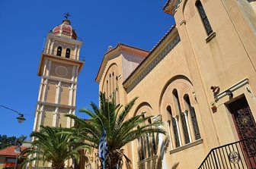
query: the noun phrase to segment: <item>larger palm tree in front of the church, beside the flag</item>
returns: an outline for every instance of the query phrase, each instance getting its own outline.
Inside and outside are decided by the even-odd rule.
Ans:
[[[79,110],[90,116],[88,120],[67,114],[68,117],[75,120],[75,128],[72,129],[72,133],[78,138],[84,139],[85,145],[98,149],[103,130],[106,130],[109,152],[107,166],[109,168],[120,166],[123,163],[123,157],[126,158],[126,166],[130,163],[122,149],[128,142],[132,142],[146,133],[165,133],[164,130],[158,128],[162,122],[145,123],[152,116],[146,117],[143,113],[128,117],[136,99],[133,99],[123,108],[123,106],[116,106],[114,99],[108,101],[105,95],[100,93],[100,108],[91,102],[93,111],[89,109]]]

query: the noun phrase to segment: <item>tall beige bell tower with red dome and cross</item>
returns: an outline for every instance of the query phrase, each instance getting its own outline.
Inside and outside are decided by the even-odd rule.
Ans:
[[[75,114],[78,74],[85,63],[79,58],[82,41],[68,20],[48,33],[40,58],[38,76],[41,77],[34,119],[34,131],[40,126],[72,127],[65,114]]]

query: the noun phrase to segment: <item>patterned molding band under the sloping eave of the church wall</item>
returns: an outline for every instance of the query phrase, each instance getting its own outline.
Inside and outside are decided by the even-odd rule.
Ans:
[[[146,68],[145,71],[142,72],[142,74],[139,75],[139,77],[136,78],[136,80],[133,81],[133,83],[127,87],[126,92],[130,92],[134,89],[137,84],[139,84],[140,81],[144,79],[154,68],[155,66],[162,61],[163,58],[165,58],[166,55],[168,55],[169,52],[171,52],[172,49],[180,42],[180,36],[176,36],[173,41],[165,48],[165,50],[160,53],[154,61],[152,61],[151,64],[149,64],[149,67]]]

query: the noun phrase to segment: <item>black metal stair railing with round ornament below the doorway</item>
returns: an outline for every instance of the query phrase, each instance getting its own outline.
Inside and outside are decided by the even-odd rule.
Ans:
[[[256,168],[256,138],[212,149],[198,169]]]

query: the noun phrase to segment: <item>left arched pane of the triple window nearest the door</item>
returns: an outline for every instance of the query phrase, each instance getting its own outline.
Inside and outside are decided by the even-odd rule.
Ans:
[[[177,129],[177,125],[176,125],[177,124],[176,119],[174,117],[172,117],[170,105],[167,106],[166,110],[168,112],[167,118],[168,118],[168,130],[169,130],[170,136],[171,136],[171,128],[172,128],[173,133],[174,133],[175,147],[179,147],[179,146],[181,146],[181,143],[179,141],[180,139],[179,139],[178,129]]]

